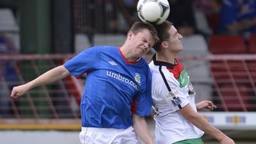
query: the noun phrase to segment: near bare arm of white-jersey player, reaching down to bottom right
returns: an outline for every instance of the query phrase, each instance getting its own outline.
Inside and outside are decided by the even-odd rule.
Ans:
[[[196,113],[196,111],[193,111],[191,106],[187,104],[184,108],[179,110],[179,113],[181,113],[189,122],[194,124],[196,127],[204,131],[205,133],[209,134],[216,140],[220,141],[221,144],[234,144],[235,142],[228,138],[223,132],[213,127],[205,118],[200,115],[199,113]]]

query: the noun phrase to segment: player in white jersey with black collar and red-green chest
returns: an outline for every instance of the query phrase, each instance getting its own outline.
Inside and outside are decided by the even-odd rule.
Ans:
[[[156,26],[159,42],[150,63],[152,101],[155,109],[157,144],[202,144],[204,132],[221,144],[234,144],[223,132],[197,113],[197,109],[215,106],[211,101],[195,104],[195,91],[182,63],[175,56],[182,51],[182,35],[171,22]]]

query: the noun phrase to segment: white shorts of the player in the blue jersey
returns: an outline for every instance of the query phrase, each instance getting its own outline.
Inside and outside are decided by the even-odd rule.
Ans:
[[[127,129],[82,127],[79,139],[82,144],[140,144],[132,126]]]

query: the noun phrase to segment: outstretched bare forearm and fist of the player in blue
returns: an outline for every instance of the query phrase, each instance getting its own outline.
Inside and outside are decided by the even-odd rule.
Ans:
[[[53,83],[67,77],[69,74],[70,72],[68,72],[67,68],[65,68],[63,65],[53,68],[45,72],[41,76],[37,77],[33,81],[30,81],[29,83],[13,87],[11,97],[18,98],[28,92],[28,90],[30,90],[31,88]]]

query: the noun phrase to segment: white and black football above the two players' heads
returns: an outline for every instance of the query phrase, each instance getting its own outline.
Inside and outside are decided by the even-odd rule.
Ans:
[[[168,0],[140,0],[137,12],[143,22],[161,24],[169,16],[170,5]]]

